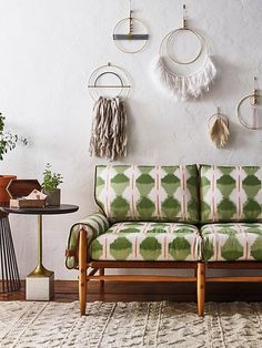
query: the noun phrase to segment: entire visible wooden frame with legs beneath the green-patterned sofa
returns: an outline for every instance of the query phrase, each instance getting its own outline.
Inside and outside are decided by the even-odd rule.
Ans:
[[[115,262],[87,260],[87,231],[81,229],[79,236],[79,303],[80,313],[85,315],[88,282],[190,282],[196,284],[198,314],[204,314],[206,283],[262,283],[262,276],[220,276],[206,277],[206,269],[262,269],[262,262]],[[104,268],[135,269],[193,269],[194,276],[158,276],[158,275],[104,275]],[[88,273],[89,272],[89,273]]]

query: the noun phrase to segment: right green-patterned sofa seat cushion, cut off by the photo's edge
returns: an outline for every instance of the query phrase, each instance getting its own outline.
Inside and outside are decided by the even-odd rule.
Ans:
[[[262,224],[209,224],[201,228],[209,262],[262,260]]]

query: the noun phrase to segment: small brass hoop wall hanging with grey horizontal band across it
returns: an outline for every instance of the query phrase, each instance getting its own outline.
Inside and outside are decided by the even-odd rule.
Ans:
[[[129,17],[120,20],[113,29],[113,41],[119,50],[124,53],[138,53],[143,50],[148,40],[149,33],[145,24],[133,18],[131,9],[131,0]]]

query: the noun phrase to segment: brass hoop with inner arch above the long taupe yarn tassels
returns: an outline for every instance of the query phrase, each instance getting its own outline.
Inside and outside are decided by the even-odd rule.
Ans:
[[[117,78],[118,83],[99,84],[99,80],[105,75]],[[104,90],[107,91],[107,89],[119,89],[120,91],[114,95],[114,98],[119,96],[121,99],[125,99],[129,96],[130,88],[129,78],[125,71],[118,65],[111,64],[110,62],[107,65],[97,68],[91,73],[88,82],[89,93],[94,101],[97,101],[100,96],[107,96],[103,95]],[[101,91],[102,89],[103,91]]]

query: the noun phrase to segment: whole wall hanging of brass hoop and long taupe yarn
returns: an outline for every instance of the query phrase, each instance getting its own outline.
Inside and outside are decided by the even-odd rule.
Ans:
[[[108,63],[91,73],[88,88],[94,100],[90,155],[110,161],[125,156],[128,74],[120,66]]]

